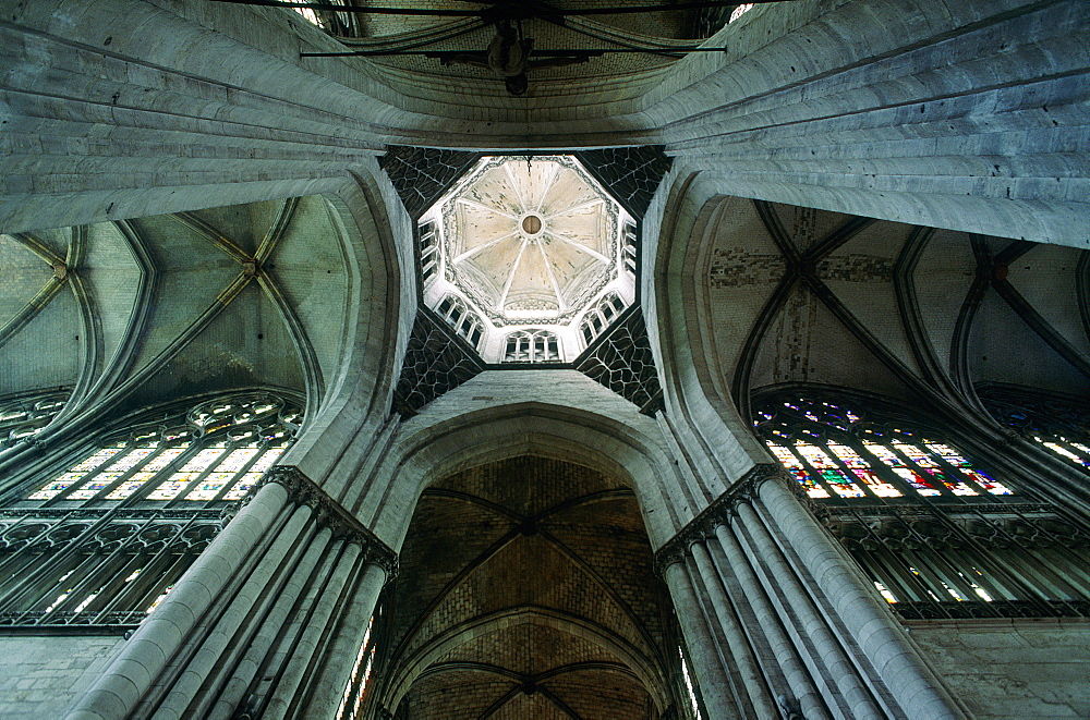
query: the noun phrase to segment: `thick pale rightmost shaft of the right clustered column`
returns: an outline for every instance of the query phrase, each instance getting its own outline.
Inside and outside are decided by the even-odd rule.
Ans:
[[[882,607],[888,603],[865,585],[859,570],[788,489],[788,481],[775,476],[760,480],[761,502],[860,649],[882,670],[894,700],[910,719],[964,717],[889,609]]]

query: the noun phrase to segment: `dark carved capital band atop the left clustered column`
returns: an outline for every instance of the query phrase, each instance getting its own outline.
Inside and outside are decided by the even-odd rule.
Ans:
[[[386,581],[398,574],[398,553],[352,516],[344,508],[326,495],[318,485],[294,465],[274,465],[254,484],[246,497],[239,501],[241,509],[269,483],[276,483],[288,492],[288,502],[307,505],[312,509],[315,523],[328,527],[336,539],[355,542],[363,548],[365,562],[374,563],[386,571]]]

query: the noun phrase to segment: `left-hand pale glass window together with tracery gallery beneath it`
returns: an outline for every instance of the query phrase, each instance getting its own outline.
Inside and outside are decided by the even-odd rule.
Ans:
[[[299,431],[246,393],[156,412],[0,508],[0,625],[131,627],[162,601]]]

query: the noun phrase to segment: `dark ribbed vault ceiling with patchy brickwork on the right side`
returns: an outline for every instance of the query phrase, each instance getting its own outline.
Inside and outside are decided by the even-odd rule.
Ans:
[[[723,396],[811,382],[935,400],[1090,392],[1090,253],[726,198],[698,302]]]

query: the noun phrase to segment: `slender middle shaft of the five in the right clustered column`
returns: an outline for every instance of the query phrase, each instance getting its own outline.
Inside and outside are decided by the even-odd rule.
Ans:
[[[746,554],[738,544],[734,530],[729,525],[720,524],[715,527],[715,535],[719,544],[719,552],[729,564],[737,578],[737,585],[741,587],[742,594],[749,601],[751,612],[754,615],[754,626],[764,634],[770,650],[775,656],[776,663],[783,674],[783,680],[798,700],[802,715],[806,718],[826,718],[828,711],[810,672],[804,667],[798,651],[788,637],[787,632],[780,622],[775,609],[768,600],[767,595],[762,589],[753,569]]]

